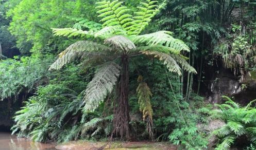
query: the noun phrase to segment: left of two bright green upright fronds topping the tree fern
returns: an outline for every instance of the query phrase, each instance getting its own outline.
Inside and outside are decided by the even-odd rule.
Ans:
[[[132,15],[129,14],[131,10],[122,6],[123,2],[115,0],[113,2],[102,1],[96,4],[98,5],[96,7],[98,17],[102,18],[100,22],[103,22],[103,27],[118,26],[125,30],[133,22]]]

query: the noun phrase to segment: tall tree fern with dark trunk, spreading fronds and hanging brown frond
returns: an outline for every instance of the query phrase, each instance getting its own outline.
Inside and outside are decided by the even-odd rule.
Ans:
[[[166,65],[169,71],[181,75],[182,69],[196,73],[186,62],[181,51],[190,51],[182,41],[175,39],[170,31],[158,31],[150,34],[141,33],[148,26],[151,18],[159,11],[158,2],[146,0],[140,3],[138,11],[132,11],[120,1],[101,1],[96,3],[101,29],[93,28],[97,23],[91,22],[88,30],[77,28],[55,29],[57,36],[83,37],[59,54],[59,58],[49,70],[61,69],[67,63],[80,60],[83,69],[98,66],[94,79],[84,90],[84,111],[94,111],[103,102],[117,84],[113,133],[121,138],[130,137],[129,116],[129,62],[138,55],[156,58]],[[98,30],[99,29],[99,30]],[[146,84],[139,82],[137,89],[144,120],[152,127],[152,110],[148,108],[150,94]],[[143,93],[148,92],[148,93]],[[146,99],[146,100],[144,100]],[[146,107],[144,107],[146,106]],[[144,109],[145,108],[145,109]],[[148,129],[150,131],[150,129]]]

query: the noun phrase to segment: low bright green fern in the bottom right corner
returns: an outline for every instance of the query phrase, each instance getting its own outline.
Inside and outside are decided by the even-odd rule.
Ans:
[[[256,143],[256,108],[251,105],[256,101],[251,101],[247,106],[233,102],[224,96],[225,104],[216,104],[220,110],[216,110],[221,118],[226,121],[226,125],[215,130],[213,134],[221,139],[215,148],[216,150],[229,149],[236,139],[246,137],[249,143]],[[245,145],[246,146],[246,145]],[[249,145],[247,145],[249,146]]]

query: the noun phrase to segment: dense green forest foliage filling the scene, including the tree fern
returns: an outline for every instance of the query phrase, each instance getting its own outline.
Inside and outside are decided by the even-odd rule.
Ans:
[[[255,21],[255,0],[0,0],[0,118],[40,142],[253,149],[254,102],[215,108],[203,80],[223,68],[254,91]]]

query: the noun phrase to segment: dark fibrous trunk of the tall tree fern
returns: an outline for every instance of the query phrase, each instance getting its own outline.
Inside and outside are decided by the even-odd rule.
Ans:
[[[129,115],[129,70],[128,57],[122,57],[122,72],[120,82],[117,86],[117,99],[114,109],[114,129],[113,133],[116,136],[121,136],[121,139],[130,140],[130,115]]]

